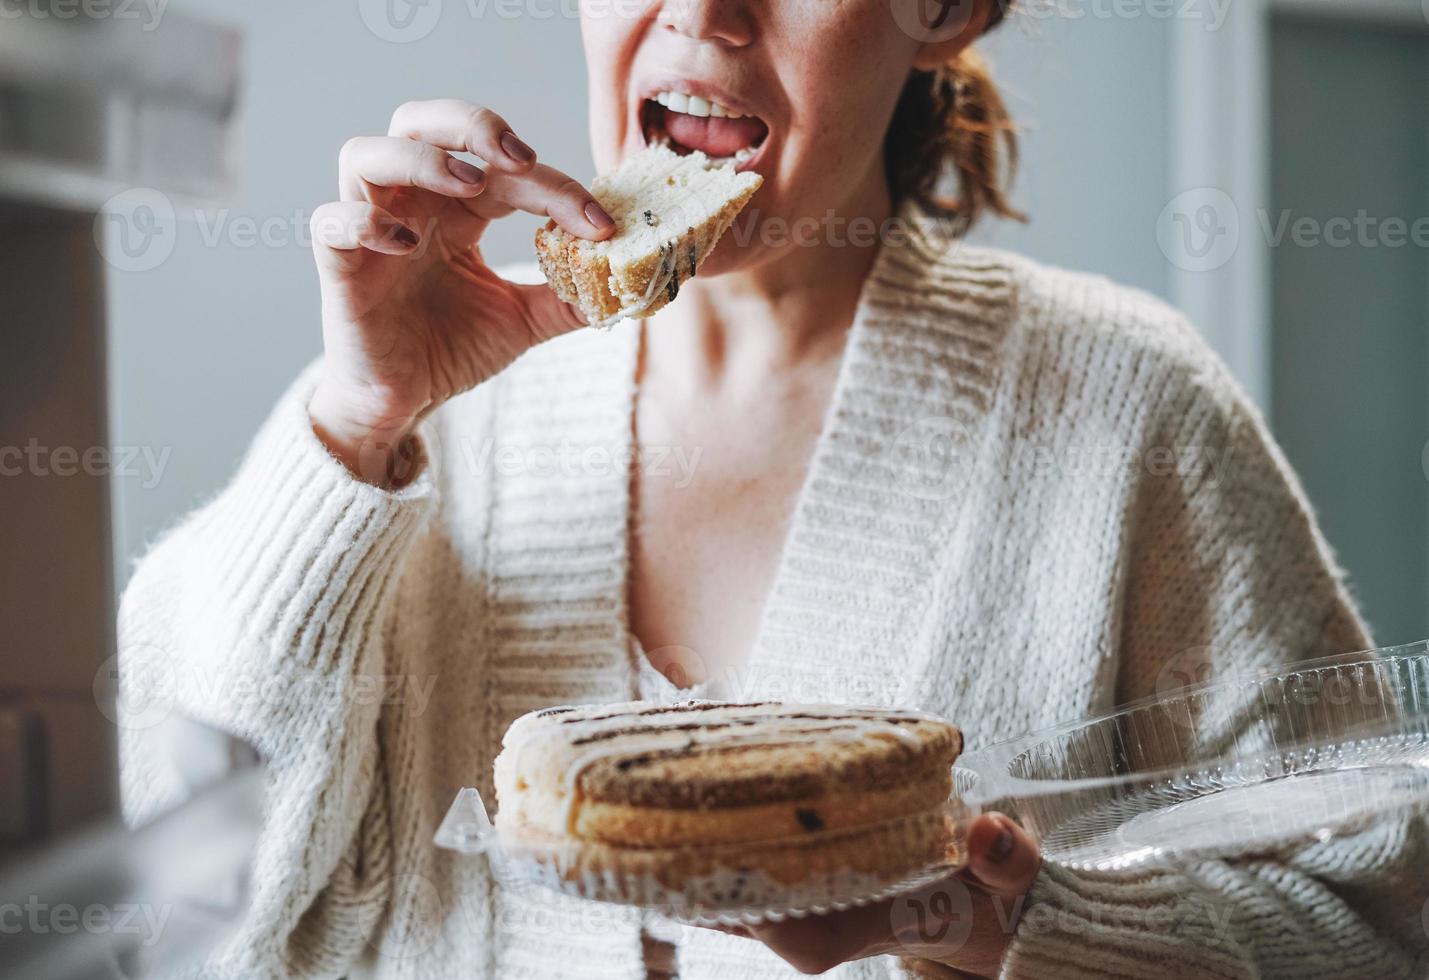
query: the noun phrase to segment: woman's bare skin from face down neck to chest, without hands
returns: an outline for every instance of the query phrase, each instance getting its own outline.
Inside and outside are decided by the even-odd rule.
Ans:
[[[763,187],[650,321],[640,373],[640,444],[697,453],[699,466],[679,483],[634,474],[630,621],[646,650],[687,651],[687,680],[737,683],[872,261],[872,247],[830,244],[825,216],[873,229],[890,214],[883,134],[905,80],[977,33],[923,44],[893,16],[915,1],[670,0],[616,16],[622,4],[584,0],[599,169],[644,146],[652,80],[716,84],[769,126]],[[813,246],[795,240],[810,234]]]

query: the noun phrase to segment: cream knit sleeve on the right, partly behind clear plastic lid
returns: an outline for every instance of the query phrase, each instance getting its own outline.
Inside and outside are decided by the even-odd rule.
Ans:
[[[1215,376],[1156,399],[1147,449],[1182,454],[1179,466],[1140,476],[1126,517],[1117,700],[1232,667],[1370,646],[1256,410]],[[1047,866],[1003,976],[1429,976],[1426,867],[1425,821],[1408,816],[1328,843],[1175,870]]]

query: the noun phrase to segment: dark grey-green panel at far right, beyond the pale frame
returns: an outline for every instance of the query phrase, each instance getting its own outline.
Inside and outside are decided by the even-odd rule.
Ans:
[[[1353,573],[1379,643],[1429,636],[1429,250],[1376,226],[1429,221],[1429,36],[1278,17],[1270,420]],[[1325,126],[1325,120],[1336,120]]]

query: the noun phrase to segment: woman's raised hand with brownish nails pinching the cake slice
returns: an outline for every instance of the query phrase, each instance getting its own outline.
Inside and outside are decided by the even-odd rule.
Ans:
[[[452,151],[476,154],[486,171]],[[400,483],[402,449],[424,414],[584,323],[546,286],[486,266],[487,224],[520,210],[600,240],[614,223],[500,116],[459,100],[407,103],[387,136],[349,140],[339,190],[312,221],[324,354],[309,414],[347,469]]]

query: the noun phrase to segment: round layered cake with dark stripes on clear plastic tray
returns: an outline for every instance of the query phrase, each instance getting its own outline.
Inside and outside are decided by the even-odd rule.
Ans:
[[[616,900],[889,883],[953,859],[960,749],[957,729],[917,711],[552,707],[506,733],[496,827],[507,854],[602,877]]]

